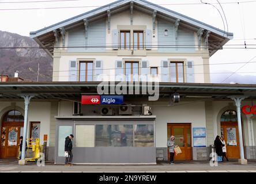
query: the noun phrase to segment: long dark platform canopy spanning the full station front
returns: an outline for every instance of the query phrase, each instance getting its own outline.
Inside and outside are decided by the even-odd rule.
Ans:
[[[2,82],[0,83],[0,100],[18,99],[20,94],[35,94],[33,99],[80,99],[81,95],[97,95],[100,82]],[[113,84],[109,83],[110,86]],[[138,83],[140,89],[148,87],[146,83]],[[118,83],[114,83],[116,87]],[[229,99],[231,95],[246,95],[256,99],[256,85],[229,85],[210,83],[159,83],[160,98],[170,98],[179,93],[182,99]],[[148,94],[138,94],[137,98],[148,98]],[[134,101],[134,95],[125,95]]]

